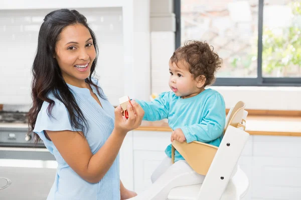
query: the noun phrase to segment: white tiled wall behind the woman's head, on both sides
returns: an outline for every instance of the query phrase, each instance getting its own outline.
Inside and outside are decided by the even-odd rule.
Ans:
[[[31,103],[31,66],[38,32],[44,16],[51,10],[0,10],[0,103]],[[99,57],[96,72],[104,91],[116,102],[115,99],[118,100],[124,92],[124,86],[119,83],[124,81],[121,7],[77,10],[87,17],[97,36]]]

